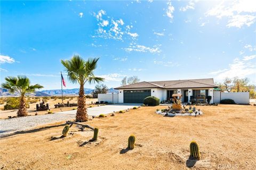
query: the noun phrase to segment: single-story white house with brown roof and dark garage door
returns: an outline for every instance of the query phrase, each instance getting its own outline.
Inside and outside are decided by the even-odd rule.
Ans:
[[[173,94],[182,94],[182,102],[189,102],[190,96],[194,98],[212,96],[210,103],[213,103],[214,80],[191,79],[191,80],[170,80],[170,81],[142,81],[117,87],[118,103],[143,103],[148,96],[155,96],[160,101],[172,99]]]

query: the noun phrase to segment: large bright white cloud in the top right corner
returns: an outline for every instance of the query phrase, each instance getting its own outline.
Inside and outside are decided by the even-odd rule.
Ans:
[[[243,25],[250,27],[255,22],[256,1],[226,1],[221,2],[206,12],[207,16],[228,18],[227,27],[241,28]]]

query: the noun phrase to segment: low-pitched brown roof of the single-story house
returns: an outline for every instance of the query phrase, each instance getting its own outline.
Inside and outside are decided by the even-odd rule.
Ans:
[[[213,79],[192,79],[192,80],[170,80],[170,81],[142,81],[115,89],[137,89],[137,88],[164,88],[164,89],[183,89],[183,88],[217,88]]]

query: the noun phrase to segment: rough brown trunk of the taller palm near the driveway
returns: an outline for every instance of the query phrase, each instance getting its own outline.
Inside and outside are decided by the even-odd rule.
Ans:
[[[80,85],[79,96],[77,101],[78,107],[76,112],[76,121],[77,122],[87,122],[87,108],[85,104],[85,96],[84,96],[84,86]]]

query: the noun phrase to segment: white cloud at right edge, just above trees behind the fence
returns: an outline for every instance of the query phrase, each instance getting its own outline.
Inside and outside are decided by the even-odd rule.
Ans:
[[[248,75],[256,74],[255,63],[247,61],[246,57],[244,59],[245,60],[239,60],[239,58],[235,58],[235,60],[229,64],[228,69],[213,71],[210,74],[216,75],[217,79],[225,79],[226,77],[230,77],[230,75],[243,78]]]

